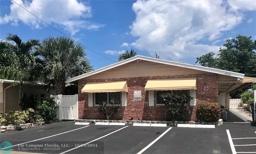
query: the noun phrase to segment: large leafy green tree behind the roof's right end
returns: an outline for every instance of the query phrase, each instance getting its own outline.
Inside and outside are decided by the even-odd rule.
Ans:
[[[197,57],[196,63],[245,75],[256,74],[256,40],[253,41],[251,36],[237,35],[235,39],[227,39],[223,46],[224,48],[220,48],[217,56],[210,52]],[[256,75],[250,77],[256,77]],[[230,96],[238,98],[250,88],[252,86],[238,90]]]

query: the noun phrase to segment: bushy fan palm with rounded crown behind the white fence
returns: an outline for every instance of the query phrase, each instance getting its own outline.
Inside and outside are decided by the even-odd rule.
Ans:
[[[56,95],[63,94],[67,79],[92,70],[84,47],[71,38],[45,38],[39,55],[43,61],[45,83],[48,83],[48,87],[55,85]]]

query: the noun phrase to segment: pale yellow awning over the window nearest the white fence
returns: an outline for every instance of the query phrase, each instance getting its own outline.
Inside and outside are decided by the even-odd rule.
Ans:
[[[82,93],[127,92],[127,81],[88,82]]]

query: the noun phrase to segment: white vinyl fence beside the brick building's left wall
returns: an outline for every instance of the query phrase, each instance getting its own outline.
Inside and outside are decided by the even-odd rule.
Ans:
[[[78,95],[51,95],[56,106],[56,119],[74,120],[78,118]]]

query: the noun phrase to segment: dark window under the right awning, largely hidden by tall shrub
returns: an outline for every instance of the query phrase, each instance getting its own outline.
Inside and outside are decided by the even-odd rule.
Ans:
[[[156,105],[165,105],[164,99],[161,97],[164,93],[176,93],[176,94],[185,94],[189,95],[189,90],[163,90],[163,91],[156,91]],[[187,101],[186,104],[188,104],[189,101]]]

